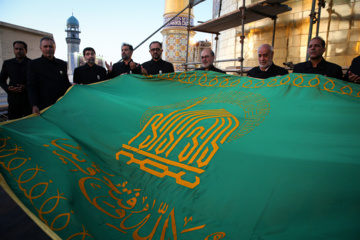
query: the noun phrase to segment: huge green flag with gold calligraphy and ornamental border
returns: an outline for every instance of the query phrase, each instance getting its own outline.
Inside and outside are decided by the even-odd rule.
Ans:
[[[62,239],[359,239],[359,109],[319,75],[122,75],[3,124],[0,171]]]

